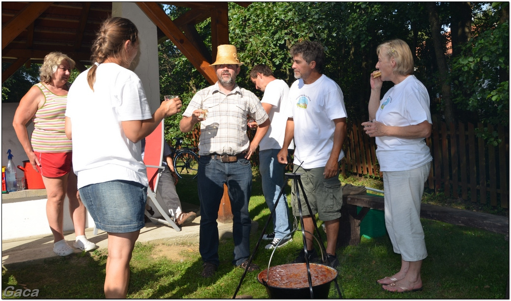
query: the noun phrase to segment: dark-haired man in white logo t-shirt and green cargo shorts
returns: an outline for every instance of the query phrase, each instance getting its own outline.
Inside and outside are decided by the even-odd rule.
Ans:
[[[291,47],[292,68],[297,79],[289,91],[290,110],[286,123],[284,145],[278,153],[278,162],[287,163],[287,148],[294,138],[294,172],[300,180],[310,203],[312,214],[318,213],[327,233],[327,262],[339,264],[335,256],[339,217],[341,216],[342,188],[339,181],[339,162],[344,158],[342,144],[346,137],[346,109],[339,86],[322,74],[323,46],[318,42],[303,41]],[[294,189],[293,189],[294,190]],[[292,191],[293,194],[294,191]],[[304,197],[301,197],[304,198]],[[307,257],[314,261],[313,219],[305,199],[300,199],[305,210]],[[299,216],[296,198],[292,199],[294,216]],[[305,249],[294,263],[305,262]]]

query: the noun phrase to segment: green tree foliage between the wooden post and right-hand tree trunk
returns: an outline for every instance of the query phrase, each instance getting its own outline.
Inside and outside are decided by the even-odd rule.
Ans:
[[[294,81],[291,46],[304,39],[319,41],[327,54],[323,73],[341,87],[348,116],[367,118],[369,74],[377,63],[376,47],[384,40],[399,37],[412,49],[423,49],[429,30],[424,10],[416,3],[257,2],[247,8],[231,5],[229,38],[240,50],[246,71],[264,63],[288,84]],[[417,61],[417,73],[427,75],[423,61]],[[246,73],[240,77],[245,80],[238,83],[251,89]],[[390,87],[386,85],[387,89]]]

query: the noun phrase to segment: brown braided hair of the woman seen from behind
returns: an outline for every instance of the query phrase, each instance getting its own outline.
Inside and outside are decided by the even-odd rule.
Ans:
[[[87,82],[92,91],[94,91],[98,65],[109,57],[118,59],[123,67],[129,67],[126,66],[128,58],[124,48],[127,40],[130,40],[132,44],[138,41],[138,30],[133,22],[121,17],[111,17],[103,22],[91,48],[90,61],[94,64],[87,73]]]

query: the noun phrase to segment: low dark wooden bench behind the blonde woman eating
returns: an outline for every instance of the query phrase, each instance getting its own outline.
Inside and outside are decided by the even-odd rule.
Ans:
[[[359,213],[357,213],[357,206],[362,207]],[[369,209],[383,210],[383,196],[368,194],[343,196],[337,247],[360,243],[360,223]],[[422,204],[421,218],[479,228],[509,236],[509,218],[505,216]]]

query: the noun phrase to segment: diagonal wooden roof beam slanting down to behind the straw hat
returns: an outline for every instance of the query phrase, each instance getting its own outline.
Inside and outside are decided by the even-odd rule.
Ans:
[[[210,84],[217,81],[215,70],[194,44],[177,28],[169,16],[154,2],[136,2],[138,7],[164,32],[176,45],[179,51],[188,58],[192,65],[206,78]]]

